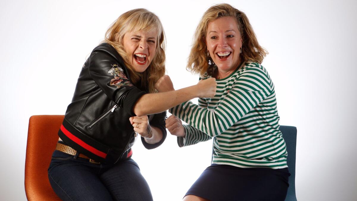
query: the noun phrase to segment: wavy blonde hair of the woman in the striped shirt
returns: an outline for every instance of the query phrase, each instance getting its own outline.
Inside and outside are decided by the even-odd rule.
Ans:
[[[207,56],[206,34],[207,27],[211,21],[221,17],[234,17],[237,21],[238,29],[242,37],[242,53],[240,57],[244,61],[250,60],[253,62],[262,63],[263,58],[268,52],[259,45],[257,37],[253,31],[251,24],[245,13],[235,9],[229,4],[216,4],[211,6],[205,14],[203,14],[198,23],[193,38],[193,44],[190,55],[188,57],[187,70],[192,73],[199,73],[201,77],[207,72],[208,75],[213,74],[213,61]]]

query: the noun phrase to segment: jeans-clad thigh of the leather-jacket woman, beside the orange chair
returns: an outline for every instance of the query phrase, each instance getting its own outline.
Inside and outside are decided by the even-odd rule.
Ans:
[[[109,191],[95,172],[96,168],[91,166],[95,164],[86,163],[89,162],[55,151],[48,171],[55,193],[62,200],[112,200]]]

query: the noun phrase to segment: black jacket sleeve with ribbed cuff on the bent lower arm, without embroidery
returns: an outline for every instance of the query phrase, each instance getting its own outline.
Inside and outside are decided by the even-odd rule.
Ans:
[[[158,114],[154,114],[154,117],[150,121],[150,125],[154,126],[156,128],[160,128],[160,130],[162,132],[162,138],[159,142],[157,142],[155,144],[149,144],[149,143],[145,142],[143,137],[141,137],[141,142],[145,148],[154,149],[156,147],[159,147],[165,141],[166,135],[167,135],[166,127],[165,127],[165,119],[166,118],[167,118],[166,111],[158,113]]]

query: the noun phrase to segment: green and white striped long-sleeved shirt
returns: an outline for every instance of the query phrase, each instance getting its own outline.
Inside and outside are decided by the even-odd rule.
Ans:
[[[287,151],[279,131],[274,84],[266,69],[243,62],[230,76],[216,80],[213,98],[198,99],[170,109],[182,119],[186,136],[178,146],[203,142],[215,136],[215,164],[237,167],[285,168]]]

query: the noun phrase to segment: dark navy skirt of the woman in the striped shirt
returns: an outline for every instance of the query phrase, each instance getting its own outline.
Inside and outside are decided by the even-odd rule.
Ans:
[[[285,200],[289,187],[288,168],[240,168],[212,164],[202,172],[186,195],[212,201]]]

